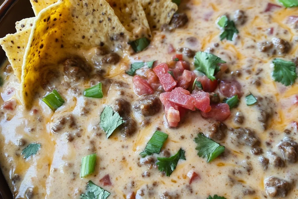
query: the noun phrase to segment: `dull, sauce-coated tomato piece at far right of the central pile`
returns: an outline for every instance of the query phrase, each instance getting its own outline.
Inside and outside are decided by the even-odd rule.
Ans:
[[[219,91],[225,97],[238,95],[238,98],[240,98],[243,95],[241,91],[241,84],[236,80],[222,80],[219,83]]]

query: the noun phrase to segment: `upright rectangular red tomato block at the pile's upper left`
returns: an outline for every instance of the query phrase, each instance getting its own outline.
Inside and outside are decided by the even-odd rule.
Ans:
[[[168,73],[169,68],[166,63],[159,64],[157,67],[153,68],[153,71],[159,78],[160,84],[164,90],[171,91],[173,88],[176,87],[177,81],[172,77],[170,73]]]

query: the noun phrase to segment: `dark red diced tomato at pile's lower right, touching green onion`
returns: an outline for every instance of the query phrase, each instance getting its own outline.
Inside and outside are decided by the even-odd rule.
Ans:
[[[226,103],[211,104],[209,112],[201,112],[204,118],[212,118],[216,121],[225,121],[230,116],[230,107]]]

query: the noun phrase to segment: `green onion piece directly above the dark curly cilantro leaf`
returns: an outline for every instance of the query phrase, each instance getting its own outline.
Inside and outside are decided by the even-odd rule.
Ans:
[[[145,158],[146,155],[151,155],[152,153],[159,153],[167,137],[168,135],[166,133],[156,131],[150,138],[145,150],[140,153],[140,155],[142,155],[142,158]]]

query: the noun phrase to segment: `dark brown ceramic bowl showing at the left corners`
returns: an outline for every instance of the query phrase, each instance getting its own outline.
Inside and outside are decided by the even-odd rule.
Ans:
[[[15,22],[34,16],[29,0],[0,0],[0,38],[15,33]],[[6,59],[0,47],[0,64]],[[3,151],[1,151],[3,153]],[[1,162],[0,162],[1,165]],[[12,199],[13,196],[0,170],[0,199]]]

